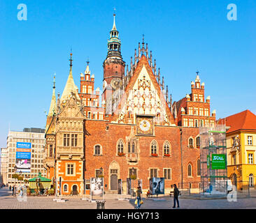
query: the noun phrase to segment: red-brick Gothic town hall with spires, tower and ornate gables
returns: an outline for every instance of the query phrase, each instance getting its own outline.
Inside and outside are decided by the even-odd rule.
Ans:
[[[143,180],[143,190],[152,177],[164,177],[166,189],[174,183],[199,183],[199,126],[215,125],[215,112],[210,114],[210,98],[205,100],[198,73],[192,93],[172,102],[144,39],[130,68],[123,61],[115,15],[101,95],[99,88],[94,90],[89,63],[78,89],[72,54],[70,61],[57,102],[54,84],[45,133],[48,178],[61,180],[62,194],[85,193],[92,177],[104,177],[105,190],[112,192],[118,190],[118,179],[125,192],[131,176]]]

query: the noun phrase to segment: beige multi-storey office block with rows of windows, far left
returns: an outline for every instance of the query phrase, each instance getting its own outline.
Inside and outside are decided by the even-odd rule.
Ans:
[[[30,160],[26,160],[27,169],[20,169],[20,162],[24,160],[17,160],[17,151],[20,151],[20,145],[29,145],[25,152],[31,152]],[[7,137],[7,183],[9,185],[23,184],[24,181],[15,180],[12,178],[13,174],[19,174],[23,179],[29,180],[38,176],[46,176],[46,170],[43,167],[45,146],[45,130],[41,128],[24,128],[22,132],[9,131]],[[18,148],[17,148],[18,147]],[[29,165],[30,164],[30,165]],[[30,168],[29,168],[30,167]]]

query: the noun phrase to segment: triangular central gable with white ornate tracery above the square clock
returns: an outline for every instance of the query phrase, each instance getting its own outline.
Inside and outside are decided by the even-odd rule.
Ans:
[[[136,115],[153,115],[159,125],[175,125],[155,75],[144,55],[115,109],[114,123],[135,123]]]

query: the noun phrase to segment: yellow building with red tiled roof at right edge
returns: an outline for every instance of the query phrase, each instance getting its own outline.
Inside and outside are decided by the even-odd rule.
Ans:
[[[227,130],[227,176],[238,190],[256,188],[256,116],[249,110],[221,119]]]

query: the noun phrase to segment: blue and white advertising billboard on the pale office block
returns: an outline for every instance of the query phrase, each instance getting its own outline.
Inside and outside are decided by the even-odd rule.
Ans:
[[[16,172],[31,171],[31,143],[17,142],[16,144]]]

